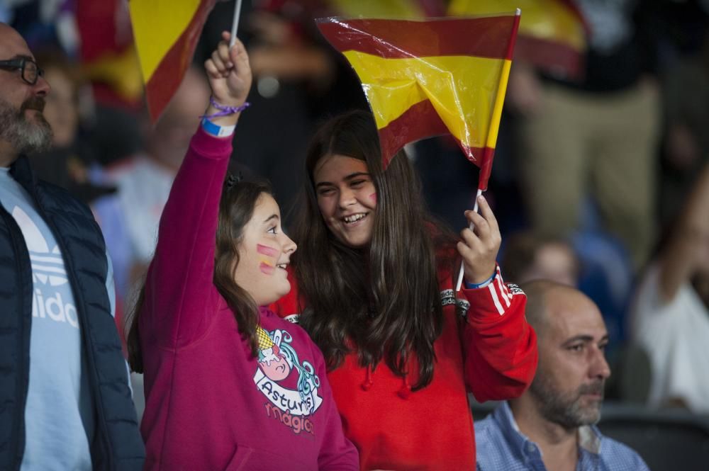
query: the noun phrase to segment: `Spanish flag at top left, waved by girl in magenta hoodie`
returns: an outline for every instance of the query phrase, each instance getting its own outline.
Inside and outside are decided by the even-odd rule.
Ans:
[[[130,0],[150,118],[160,117],[188,69],[216,0]]]

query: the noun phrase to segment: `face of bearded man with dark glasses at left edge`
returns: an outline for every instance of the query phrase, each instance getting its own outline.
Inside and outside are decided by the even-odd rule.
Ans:
[[[27,43],[16,30],[0,24],[2,60],[33,59]],[[39,77],[34,85],[22,79],[20,69],[0,69],[0,150],[10,154],[35,152],[49,146],[52,129],[42,111],[49,84]],[[0,162],[6,166],[11,161]]]

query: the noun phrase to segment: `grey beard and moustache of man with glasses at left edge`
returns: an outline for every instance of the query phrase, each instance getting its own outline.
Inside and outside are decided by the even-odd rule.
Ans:
[[[33,96],[16,110],[0,98],[0,140],[9,142],[18,154],[33,154],[52,145],[52,127],[42,114],[44,98]],[[25,117],[25,110],[38,110],[35,122]]]

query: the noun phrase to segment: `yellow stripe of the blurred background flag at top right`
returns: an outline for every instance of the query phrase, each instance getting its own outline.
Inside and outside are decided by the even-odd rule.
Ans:
[[[586,35],[579,16],[559,0],[452,0],[449,13],[454,16],[485,15],[522,10],[520,35],[563,42],[584,50]]]

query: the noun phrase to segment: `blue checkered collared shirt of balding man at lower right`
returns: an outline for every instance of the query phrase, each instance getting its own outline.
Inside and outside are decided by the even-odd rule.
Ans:
[[[475,423],[478,471],[547,471],[542,450],[520,433],[507,402]],[[595,426],[579,429],[576,471],[649,471],[640,455]]]

